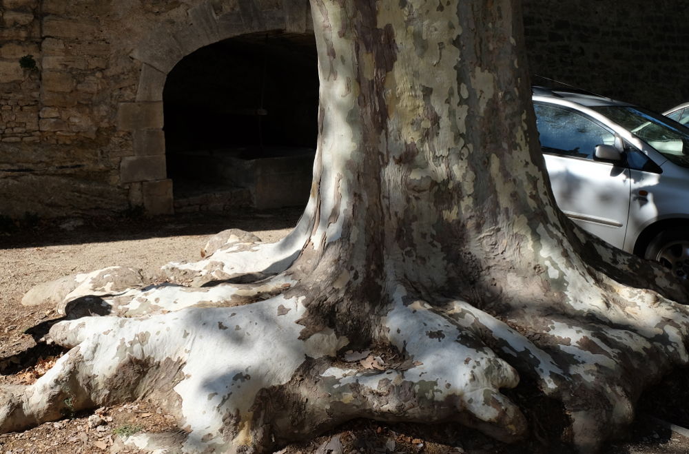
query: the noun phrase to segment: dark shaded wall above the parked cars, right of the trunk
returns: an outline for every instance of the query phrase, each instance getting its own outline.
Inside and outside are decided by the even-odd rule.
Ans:
[[[689,1],[522,5],[532,74],[657,111],[689,101]]]

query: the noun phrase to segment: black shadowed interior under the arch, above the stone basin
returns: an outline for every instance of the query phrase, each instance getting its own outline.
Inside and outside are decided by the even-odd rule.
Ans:
[[[163,91],[168,164],[189,150],[315,149],[317,68],[313,34],[249,34],[189,54]]]

